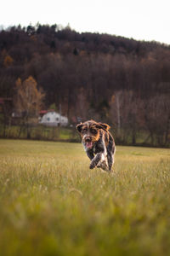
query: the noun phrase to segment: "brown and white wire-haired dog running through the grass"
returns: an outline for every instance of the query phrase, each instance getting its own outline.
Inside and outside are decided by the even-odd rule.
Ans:
[[[109,125],[89,120],[77,125],[77,131],[82,137],[82,144],[89,159],[90,169],[95,166],[111,172],[116,152],[115,142],[109,129]]]

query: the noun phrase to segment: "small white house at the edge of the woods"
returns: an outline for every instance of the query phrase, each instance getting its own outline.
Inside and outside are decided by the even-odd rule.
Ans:
[[[68,119],[55,111],[48,111],[48,113],[42,116],[39,124],[47,126],[66,126],[68,125]]]

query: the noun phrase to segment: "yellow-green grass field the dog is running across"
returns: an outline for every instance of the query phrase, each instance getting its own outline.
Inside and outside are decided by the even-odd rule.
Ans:
[[[0,140],[0,255],[170,255],[170,149]]]

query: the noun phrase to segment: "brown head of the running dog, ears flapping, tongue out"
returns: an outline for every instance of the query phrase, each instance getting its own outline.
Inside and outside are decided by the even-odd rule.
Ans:
[[[93,148],[94,143],[99,140],[99,131],[108,131],[109,125],[103,123],[97,123],[94,120],[89,120],[77,125],[77,131],[80,132],[82,137],[82,143],[86,148]]]

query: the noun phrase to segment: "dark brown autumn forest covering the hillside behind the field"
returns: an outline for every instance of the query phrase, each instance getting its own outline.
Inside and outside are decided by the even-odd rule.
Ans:
[[[170,45],[56,24],[1,28],[1,137],[19,105],[17,84],[29,78],[42,92],[31,116],[53,104],[72,129],[95,119],[111,125],[116,143],[170,146]]]

